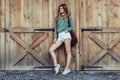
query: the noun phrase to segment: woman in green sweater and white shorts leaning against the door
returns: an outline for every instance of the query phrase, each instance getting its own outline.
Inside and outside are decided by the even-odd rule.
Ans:
[[[68,19],[70,26],[68,24]],[[69,65],[71,62],[71,35],[70,31],[73,29],[72,18],[70,13],[68,12],[68,8],[66,4],[61,4],[58,7],[58,14],[55,18],[55,31],[54,31],[54,44],[51,46],[49,52],[52,57],[54,63],[55,74],[58,74],[60,69],[60,64],[57,64],[57,59],[55,55],[55,50],[62,44],[65,44],[65,51],[67,54],[67,62],[63,75],[66,75],[71,72]]]

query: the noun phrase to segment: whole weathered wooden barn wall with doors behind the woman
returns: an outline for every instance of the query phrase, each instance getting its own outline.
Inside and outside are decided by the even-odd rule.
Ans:
[[[71,11],[79,41],[72,48],[70,67],[120,69],[119,0],[0,0],[0,69],[31,70],[52,65],[48,49],[53,43],[51,29],[61,3]],[[62,46],[56,51],[62,67],[66,62],[63,50]]]

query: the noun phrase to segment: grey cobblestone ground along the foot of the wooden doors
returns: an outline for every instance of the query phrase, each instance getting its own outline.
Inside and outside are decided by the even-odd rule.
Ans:
[[[68,75],[53,71],[0,71],[0,80],[120,80],[120,71],[72,71]]]

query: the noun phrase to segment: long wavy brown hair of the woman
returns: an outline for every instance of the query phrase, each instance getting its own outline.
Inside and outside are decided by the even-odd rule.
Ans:
[[[58,10],[57,10],[57,16],[55,17],[55,20],[56,21],[59,20],[60,16],[62,15],[62,14],[60,14],[60,7],[63,7],[63,9],[64,9],[64,11],[66,13],[66,15],[64,16],[64,20],[66,21],[68,16],[70,16],[70,12],[68,11],[67,5],[64,4],[64,3],[59,5]]]

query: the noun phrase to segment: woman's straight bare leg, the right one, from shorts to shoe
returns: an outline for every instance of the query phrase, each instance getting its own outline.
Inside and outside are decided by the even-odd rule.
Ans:
[[[67,54],[67,64],[66,64],[66,69],[69,68],[70,62],[71,62],[71,40],[70,39],[65,39],[65,48],[66,48],[66,54]]]

